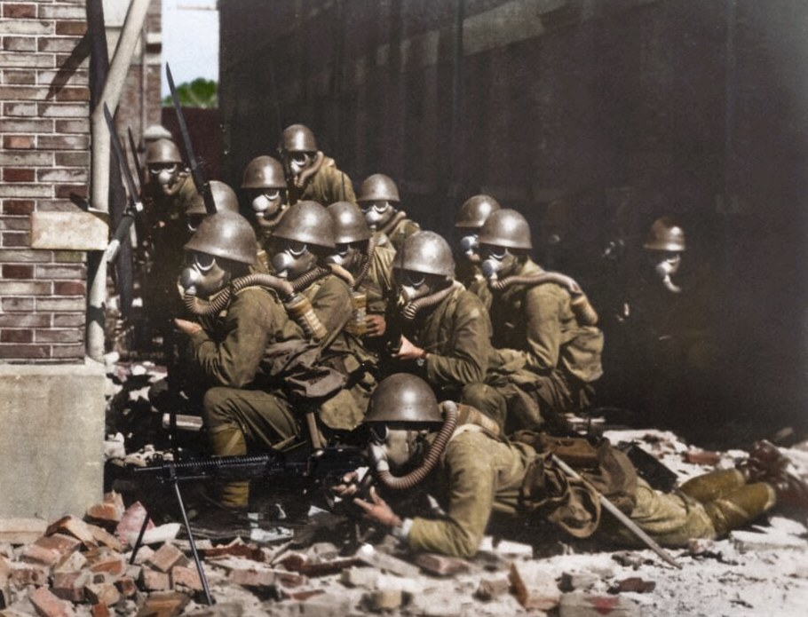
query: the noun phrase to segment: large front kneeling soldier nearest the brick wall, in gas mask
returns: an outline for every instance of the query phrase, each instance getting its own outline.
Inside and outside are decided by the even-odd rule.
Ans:
[[[285,450],[307,437],[319,443],[320,429],[316,423],[307,423],[313,419],[307,412],[315,409],[323,422],[337,430],[353,429],[361,420],[351,394],[341,390],[346,377],[338,370],[349,362],[333,349],[330,340],[312,336],[311,322],[302,327],[296,312],[301,298],[294,283],[268,274],[250,274],[255,260],[255,232],[237,214],[204,218],[186,244],[181,283],[194,320],[177,319],[175,323],[188,339],[190,372],[203,392],[210,450],[218,456]],[[327,273],[326,279],[330,278]],[[338,291],[331,281],[321,279],[321,288],[335,287]],[[319,309],[323,322],[338,331],[337,316],[324,309],[325,298],[315,300],[321,300],[315,310]],[[311,312],[311,305],[308,308]],[[329,358],[323,360],[326,355]],[[337,370],[321,360],[342,364]],[[218,502],[227,510],[246,509],[249,483],[224,483]]]

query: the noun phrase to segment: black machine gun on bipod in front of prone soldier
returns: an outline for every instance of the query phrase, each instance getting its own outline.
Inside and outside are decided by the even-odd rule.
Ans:
[[[180,482],[199,479],[299,479],[301,486],[308,489],[328,489],[338,484],[349,471],[368,464],[365,450],[355,446],[332,446],[316,449],[296,450],[289,454],[273,453],[270,455],[255,456],[213,456],[185,461],[164,461],[146,467],[135,467],[136,474],[156,474],[162,482],[170,482],[174,487],[174,496],[177,498],[182,521],[188,534],[188,543],[194,556],[196,571],[202,581],[202,589],[209,605],[213,605],[210,596],[208,579],[202,568],[202,560],[196,550],[194,534],[188,522],[185,502],[179,489]],[[147,511],[143,526],[140,527],[138,541],[132,548],[130,564],[135,558],[143,543],[143,535],[151,517]]]

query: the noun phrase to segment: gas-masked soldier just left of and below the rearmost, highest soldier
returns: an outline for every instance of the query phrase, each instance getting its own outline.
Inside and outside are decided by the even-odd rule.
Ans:
[[[242,179],[242,192],[250,202],[258,238],[258,261],[266,270],[269,264],[266,259],[265,245],[269,241],[272,230],[289,210],[286,178],[281,163],[271,156],[257,156],[247,164]]]

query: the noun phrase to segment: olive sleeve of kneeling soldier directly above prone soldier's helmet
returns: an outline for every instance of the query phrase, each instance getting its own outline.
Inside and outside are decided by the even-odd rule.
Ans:
[[[491,322],[478,297],[463,292],[457,302],[450,349],[427,349],[426,378],[430,384],[464,385],[482,382],[491,356]]]

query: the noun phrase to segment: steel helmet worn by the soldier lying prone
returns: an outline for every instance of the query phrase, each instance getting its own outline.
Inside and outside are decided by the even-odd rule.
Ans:
[[[443,423],[443,416],[429,384],[418,376],[396,373],[376,386],[365,422]]]

